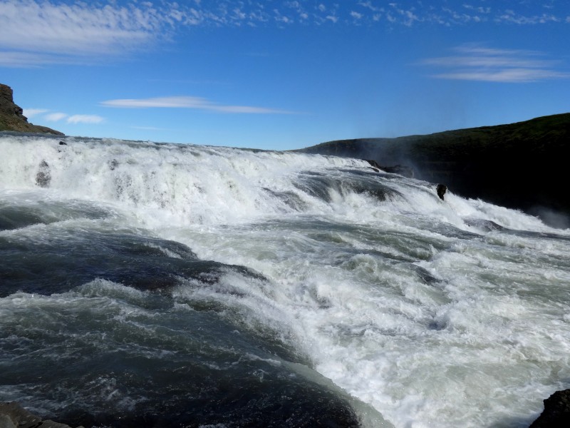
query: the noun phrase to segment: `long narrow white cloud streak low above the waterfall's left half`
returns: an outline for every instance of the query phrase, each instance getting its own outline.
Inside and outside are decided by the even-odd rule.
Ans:
[[[257,114],[291,114],[294,112],[277,110],[275,108],[252,107],[252,106],[229,106],[213,103],[205,98],[195,96],[165,96],[156,98],[125,98],[101,102],[107,107],[120,108],[196,108],[203,111],[216,113],[257,113]]]

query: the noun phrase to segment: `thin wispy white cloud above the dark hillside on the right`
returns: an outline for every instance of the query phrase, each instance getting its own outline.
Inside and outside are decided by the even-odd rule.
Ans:
[[[570,78],[570,72],[561,69],[559,61],[549,60],[537,51],[464,45],[454,52],[452,56],[426,58],[421,64],[442,70],[432,77],[455,80],[527,83]]]

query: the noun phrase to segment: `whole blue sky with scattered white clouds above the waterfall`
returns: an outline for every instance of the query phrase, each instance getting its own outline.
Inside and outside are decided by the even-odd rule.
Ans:
[[[0,0],[0,83],[69,136],[290,150],[570,112],[569,0]]]

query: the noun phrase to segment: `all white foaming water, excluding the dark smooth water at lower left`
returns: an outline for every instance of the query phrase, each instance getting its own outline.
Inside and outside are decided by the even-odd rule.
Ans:
[[[356,175],[399,193],[377,200],[351,187],[350,171],[371,172],[363,161],[58,141],[0,136],[1,198],[100,203],[120,213],[117,227],[261,272],[271,290],[226,278],[251,322],[282,330],[395,427],[525,427],[569,387],[569,230],[452,193],[441,201],[430,183]],[[304,187],[306,171],[323,173],[326,198]]]

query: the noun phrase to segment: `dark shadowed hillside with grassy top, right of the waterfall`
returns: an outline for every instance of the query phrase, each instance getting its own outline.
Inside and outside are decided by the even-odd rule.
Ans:
[[[570,113],[564,113],[425,136],[331,141],[301,151],[409,165],[416,178],[470,198],[531,213],[570,213],[569,144]]]

